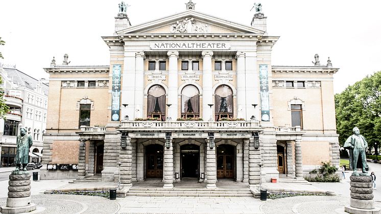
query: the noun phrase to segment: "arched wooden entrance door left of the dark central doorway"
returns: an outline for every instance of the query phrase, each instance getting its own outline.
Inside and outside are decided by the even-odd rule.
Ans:
[[[163,147],[158,144],[149,145],[146,148],[147,178],[163,177]]]

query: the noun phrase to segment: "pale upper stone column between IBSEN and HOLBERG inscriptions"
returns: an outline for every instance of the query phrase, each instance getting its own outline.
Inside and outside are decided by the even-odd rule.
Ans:
[[[177,58],[179,57],[178,51],[169,51],[166,53],[169,56],[168,68],[168,104],[172,104],[168,108],[168,116],[172,120],[177,120],[177,102],[178,102],[178,71],[177,71]]]

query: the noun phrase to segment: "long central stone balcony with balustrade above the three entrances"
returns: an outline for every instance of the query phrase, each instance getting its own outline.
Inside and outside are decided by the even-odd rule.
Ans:
[[[258,121],[122,121],[120,130],[128,131],[256,131]]]

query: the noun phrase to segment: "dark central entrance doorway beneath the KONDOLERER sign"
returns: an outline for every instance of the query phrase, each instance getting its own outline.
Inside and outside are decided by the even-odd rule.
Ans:
[[[199,177],[199,146],[188,144],[181,146],[181,178]]]

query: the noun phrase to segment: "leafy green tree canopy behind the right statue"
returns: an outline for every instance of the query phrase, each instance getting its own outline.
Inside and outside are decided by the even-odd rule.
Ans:
[[[349,85],[335,94],[336,126],[340,146],[353,134],[353,127],[368,141],[369,153],[381,143],[381,71]]]

